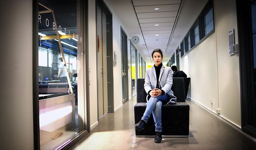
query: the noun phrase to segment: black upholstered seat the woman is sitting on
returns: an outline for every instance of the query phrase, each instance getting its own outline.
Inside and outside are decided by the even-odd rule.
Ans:
[[[144,79],[137,80],[137,104],[134,105],[134,123],[138,123],[146,110]],[[162,105],[162,135],[166,137],[188,137],[190,106],[185,103],[183,78],[173,78],[172,91],[177,97],[176,104]],[[143,130],[135,129],[137,137],[155,136],[155,123],[151,114]]]

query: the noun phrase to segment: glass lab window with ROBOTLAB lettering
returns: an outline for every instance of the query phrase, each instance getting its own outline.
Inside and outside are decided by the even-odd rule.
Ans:
[[[58,149],[85,130],[80,0],[39,0],[38,86],[41,149]]]

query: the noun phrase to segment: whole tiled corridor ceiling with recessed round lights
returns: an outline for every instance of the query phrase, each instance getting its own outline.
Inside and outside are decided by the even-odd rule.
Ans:
[[[196,21],[207,0],[104,0],[112,8],[147,63],[160,48],[167,62]],[[155,10],[154,8],[159,8]],[[112,12],[113,13],[113,12]]]

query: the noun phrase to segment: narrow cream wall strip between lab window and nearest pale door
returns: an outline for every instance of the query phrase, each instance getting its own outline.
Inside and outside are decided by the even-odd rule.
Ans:
[[[96,49],[96,10],[95,0],[88,1],[88,34],[89,34],[89,79],[90,84],[90,127],[93,129],[98,125],[98,103],[97,103],[97,49]]]

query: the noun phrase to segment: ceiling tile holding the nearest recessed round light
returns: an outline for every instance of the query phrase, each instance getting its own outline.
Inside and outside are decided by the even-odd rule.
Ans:
[[[178,11],[180,4],[171,5],[151,5],[151,6],[134,6],[136,13],[141,12],[167,12],[167,11]],[[155,10],[159,8],[159,10]]]

